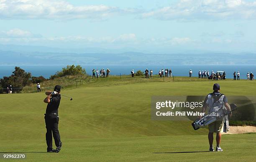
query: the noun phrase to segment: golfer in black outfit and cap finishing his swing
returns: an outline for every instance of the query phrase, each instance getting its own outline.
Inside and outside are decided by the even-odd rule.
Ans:
[[[44,102],[47,103],[46,113],[44,114],[45,124],[46,124],[46,144],[47,152],[56,152],[58,153],[61,150],[61,140],[58,130],[59,116],[58,108],[61,100],[61,95],[59,94],[61,86],[55,86],[53,92],[46,92],[47,97],[44,99]],[[54,137],[54,142],[56,149],[52,148],[52,134]]]

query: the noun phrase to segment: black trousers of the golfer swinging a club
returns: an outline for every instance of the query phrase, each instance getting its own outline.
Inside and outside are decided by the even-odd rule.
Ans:
[[[58,147],[60,140],[59,130],[58,130],[58,124],[59,124],[59,117],[58,115],[45,115],[45,124],[46,124],[46,144],[49,149],[52,148],[52,135],[54,137],[54,142],[56,147]]]

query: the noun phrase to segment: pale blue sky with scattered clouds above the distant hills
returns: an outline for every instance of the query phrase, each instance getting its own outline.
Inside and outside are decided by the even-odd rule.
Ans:
[[[0,0],[0,44],[256,52],[255,0]]]

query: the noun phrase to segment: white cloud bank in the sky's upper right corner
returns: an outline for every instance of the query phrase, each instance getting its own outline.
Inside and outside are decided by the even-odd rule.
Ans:
[[[160,20],[255,19],[256,2],[246,0],[180,0],[171,6],[143,13]]]

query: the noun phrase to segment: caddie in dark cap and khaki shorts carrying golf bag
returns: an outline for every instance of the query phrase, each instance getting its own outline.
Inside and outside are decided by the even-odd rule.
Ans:
[[[217,105],[217,106],[216,106]],[[224,107],[230,112],[230,116],[232,116],[232,111],[230,109],[230,105],[228,104],[228,99],[224,94],[220,93],[220,85],[214,84],[213,85],[213,92],[211,94],[208,94],[205,97],[204,106],[202,107],[202,112],[204,113],[207,107],[209,107],[209,114],[211,112],[216,111],[215,109],[218,109],[218,107]],[[201,119],[202,116],[198,116],[199,119]],[[228,116],[226,116],[228,117]],[[224,123],[226,122],[226,123]],[[224,128],[225,125],[225,128]],[[214,148],[212,146],[213,143],[213,133],[216,133],[216,151],[223,151],[220,148],[220,141],[221,141],[221,133],[223,132],[223,129],[225,129],[225,132],[227,132],[228,129],[228,118],[225,118],[225,116],[221,117],[220,119],[216,120],[215,122],[208,125],[209,127],[209,144],[210,149],[209,151],[214,151]]]

